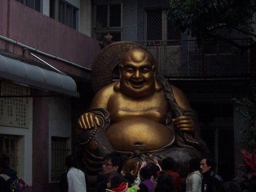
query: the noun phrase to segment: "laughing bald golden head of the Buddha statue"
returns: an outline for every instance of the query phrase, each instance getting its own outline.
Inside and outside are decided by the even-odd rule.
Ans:
[[[131,97],[144,97],[155,91],[153,59],[142,49],[125,53],[120,66],[120,90]]]

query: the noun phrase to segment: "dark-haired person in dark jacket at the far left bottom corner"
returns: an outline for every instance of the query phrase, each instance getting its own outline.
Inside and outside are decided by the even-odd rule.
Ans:
[[[18,191],[18,176],[14,169],[9,167],[10,157],[7,153],[0,154],[0,191],[16,192]]]

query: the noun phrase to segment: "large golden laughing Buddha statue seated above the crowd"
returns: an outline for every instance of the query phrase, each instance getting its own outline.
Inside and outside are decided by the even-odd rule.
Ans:
[[[89,175],[115,150],[124,154],[126,172],[138,170],[141,161],[170,156],[185,177],[188,161],[207,151],[188,99],[157,74],[155,59],[145,49],[124,53],[119,69],[119,80],[100,89],[78,119]]]

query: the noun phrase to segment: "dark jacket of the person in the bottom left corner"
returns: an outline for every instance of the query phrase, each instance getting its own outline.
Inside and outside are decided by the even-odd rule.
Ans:
[[[18,191],[18,176],[16,170],[6,168],[0,173],[0,191]]]

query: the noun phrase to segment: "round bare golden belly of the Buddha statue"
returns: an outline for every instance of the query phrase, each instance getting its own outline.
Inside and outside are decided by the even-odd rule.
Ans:
[[[152,151],[174,141],[167,126],[146,118],[116,122],[106,130],[106,136],[118,151]]]

